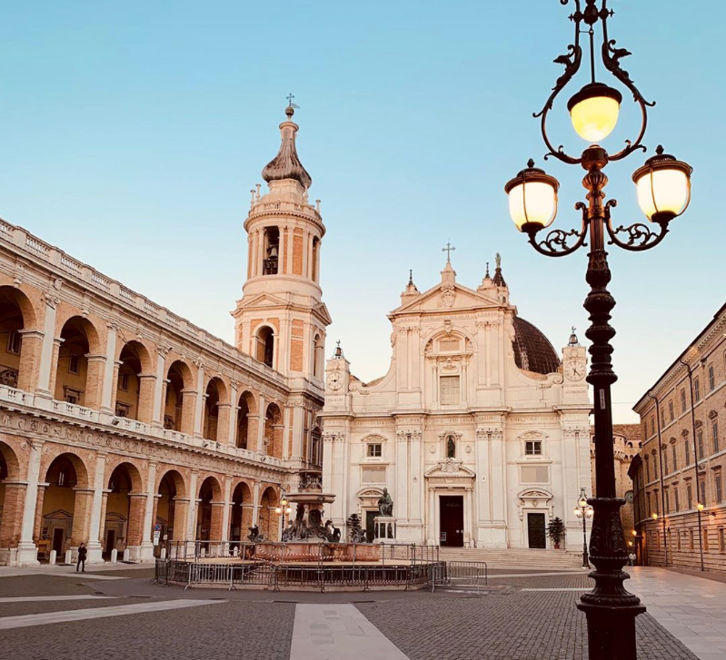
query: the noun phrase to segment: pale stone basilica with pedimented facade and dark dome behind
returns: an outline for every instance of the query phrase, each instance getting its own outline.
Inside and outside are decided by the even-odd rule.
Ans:
[[[561,351],[510,300],[499,255],[475,289],[413,279],[392,323],[391,367],[357,379],[338,350],[325,367],[323,489],[331,514],[374,535],[378,500],[393,497],[396,541],[453,547],[582,548],[573,506],[592,488],[585,350]],[[564,325],[564,322],[563,322]]]

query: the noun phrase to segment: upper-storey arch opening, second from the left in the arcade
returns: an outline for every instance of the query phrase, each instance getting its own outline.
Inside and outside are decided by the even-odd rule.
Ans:
[[[90,320],[71,316],[63,323],[59,337],[51,388],[55,399],[98,408],[105,364],[98,330]]]

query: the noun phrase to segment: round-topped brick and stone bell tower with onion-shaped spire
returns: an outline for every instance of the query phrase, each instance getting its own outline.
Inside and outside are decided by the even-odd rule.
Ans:
[[[331,323],[320,288],[325,225],[320,202],[308,200],[313,180],[295,147],[299,126],[292,103],[280,124],[280,151],[264,166],[244,230],[247,279],[232,312],[235,344],[291,379],[323,390],[325,328]]]

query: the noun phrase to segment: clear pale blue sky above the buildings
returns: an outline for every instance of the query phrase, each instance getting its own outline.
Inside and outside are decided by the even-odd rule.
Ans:
[[[724,300],[721,66],[725,3],[613,0],[623,66],[658,103],[646,143],[695,169],[669,240],[612,250],[616,421]],[[502,253],[512,301],[556,347],[586,326],[584,251],[532,251],[502,186],[532,156],[538,111],[572,41],[557,0],[510,2],[5,3],[0,20],[0,215],[232,340],[245,272],[249,190],[279,143],[284,96],[302,109],[299,153],[328,234],[328,353],[383,375],[388,310],[413,268],[438,281],[451,236],[458,281],[476,287]],[[721,81],[721,83],[719,83]],[[581,83],[584,83],[583,79]],[[572,92],[577,87],[572,87]],[[565,94],[565,98],[567,95]],[[625,96],[626,137],[636,114]],[[582,149],[566,111],[554,139]],[[632,171],[609,168],[618,222],[635,222]],[[578,222],[582,171],[561,183],[555,226]],[[584,339],[582,337],[582,339]]]

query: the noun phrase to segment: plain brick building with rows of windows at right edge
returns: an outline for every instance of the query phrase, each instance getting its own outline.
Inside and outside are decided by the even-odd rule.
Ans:
[[[726,571],[726,305],[635,405],[641,561]]]

